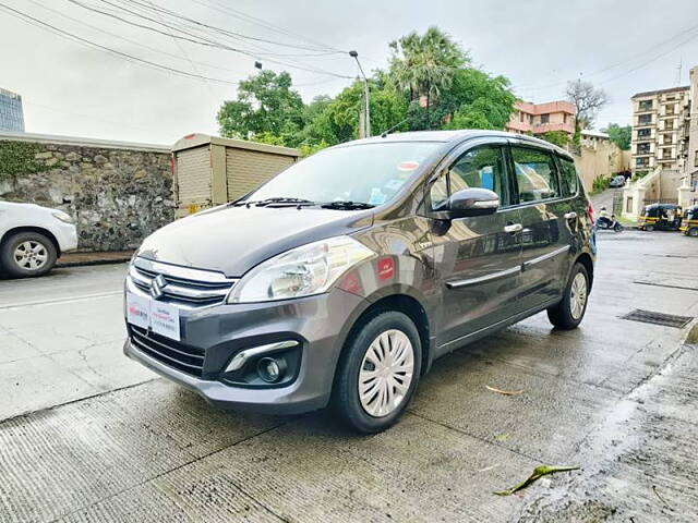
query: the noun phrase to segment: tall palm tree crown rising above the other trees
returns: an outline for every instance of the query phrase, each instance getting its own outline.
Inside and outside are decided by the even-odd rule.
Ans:
[[[392,41],[390,48],[390,75],[397,87],[409,92],[410,100],[425,97],[426,110],[450,87],[456,70],[470,61],[460,45],[437,27],[421,36],[412,32]]]

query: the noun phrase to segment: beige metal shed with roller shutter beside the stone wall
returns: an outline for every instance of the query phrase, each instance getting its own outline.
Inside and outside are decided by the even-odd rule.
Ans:
[[[188,134],[172,146],[176,217],[244,196],[299,158],[288,147]]]

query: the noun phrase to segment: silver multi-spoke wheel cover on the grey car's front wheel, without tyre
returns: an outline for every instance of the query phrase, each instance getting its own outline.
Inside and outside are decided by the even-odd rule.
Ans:
[[[369,345],[359,370],[359,400],[373,417],[384,417],[405,400],[414,370],[410,339],[401,330],[378,335]]]

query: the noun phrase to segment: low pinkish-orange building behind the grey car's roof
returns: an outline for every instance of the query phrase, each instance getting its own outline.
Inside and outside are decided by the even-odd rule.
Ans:
[[[576,112],[575,105],[564,100],[545,104],[517,101],[505,129],[510,133],[534,135],[562,131],[571,136],[575,134]]]

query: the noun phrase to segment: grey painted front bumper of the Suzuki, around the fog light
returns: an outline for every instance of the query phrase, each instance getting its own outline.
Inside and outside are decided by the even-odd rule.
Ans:
[[[123,352],[218,408],[297,414],[328,403],[341,346],[365,305],[364,299],[334,289],[327,294],[281,302],[181,309],[181,342],[204,354],[201,377],[153,357],[131,338]],[[302,351],[290,384],[251,388],[225,382],[224,370],[237,353],[285,339],[299,341]]]

